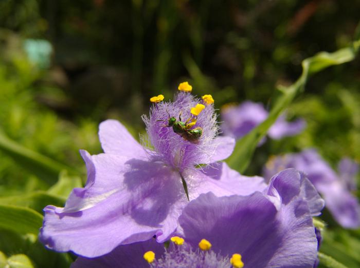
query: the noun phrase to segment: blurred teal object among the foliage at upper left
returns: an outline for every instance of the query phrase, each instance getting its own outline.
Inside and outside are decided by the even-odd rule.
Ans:
[[[50,66],[50,57],[53,51],[52,45],[45,39],[26,39],[24,49],[30,62],[40,69]]]

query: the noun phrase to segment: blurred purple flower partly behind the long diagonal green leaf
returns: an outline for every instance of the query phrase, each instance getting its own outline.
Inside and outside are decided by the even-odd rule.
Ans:
[[[268,112],[262,104],[245,101],[239,106],[227,106],[222,109],[221,118],[224,122],[221,128],[225,135],[239,139],[260,125],[267,116]],[[285,116],[281,115],[267,134],[273,139],[281,139],[285,136],[296,135],[304,128],[303,119],[287,122]]]

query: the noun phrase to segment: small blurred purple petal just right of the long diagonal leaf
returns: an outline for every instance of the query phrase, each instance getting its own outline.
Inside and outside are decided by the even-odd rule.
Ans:
[[[306,127],[303,119],[297,119],[293,122],[287,122],[284,115],[281,115],[269,129],[268,135],[273,139],[281,139],[286,136],[299,134]]]

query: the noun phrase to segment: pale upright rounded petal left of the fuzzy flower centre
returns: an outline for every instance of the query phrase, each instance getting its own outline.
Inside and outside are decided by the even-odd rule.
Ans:
[[[140,143],[117,120],[109,119],[100,123],[99,139],[105,153],[134,158],[147,157]]]

